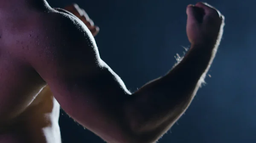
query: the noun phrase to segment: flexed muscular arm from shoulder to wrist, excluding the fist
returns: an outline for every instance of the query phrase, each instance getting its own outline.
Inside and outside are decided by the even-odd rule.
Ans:
[[[24,56],[65,112],[109,143],[156,141],[191,103],[218,47],[192,45],[166,76],[131,94],[100,59],[84,24],[65,14],[52,15],[38,23],[38,47]]]

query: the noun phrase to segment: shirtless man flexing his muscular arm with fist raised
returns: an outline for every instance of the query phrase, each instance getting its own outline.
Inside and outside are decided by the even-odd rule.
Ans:
[[[130,93],[79,18],[45,0],[0,0],[0,143],[60,143],[58,103],[108,143],[158,140],[189,107],[223,33],[215,8],[197,3],[186,13],[190,50]]]

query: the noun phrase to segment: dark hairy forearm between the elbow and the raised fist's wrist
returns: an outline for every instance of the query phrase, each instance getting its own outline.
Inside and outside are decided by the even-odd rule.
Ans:
[[[218,44],[194,45],[166,76],[151,81],[125,104],[127,121],[137,134],[157,140],[185,112],[215,57]]]

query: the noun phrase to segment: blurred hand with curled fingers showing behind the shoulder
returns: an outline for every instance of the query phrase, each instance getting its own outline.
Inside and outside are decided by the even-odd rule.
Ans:
[[[88,14],[84,11],[84,9],[80,8],[76,3],[66,6],[64,10],[61,8],[55,9],[62,12],[68,11],[74,16],[78,17],[82,22],[84,22],[84,24],[91,31],[93,36],[96,36],[99,33],[99,27],[94,25],[93,20],[91,20]]]

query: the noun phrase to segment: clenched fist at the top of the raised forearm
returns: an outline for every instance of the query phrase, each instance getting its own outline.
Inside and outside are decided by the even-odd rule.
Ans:
[[[186,14],[186,32],[192,45],[215,44],[222,36],[224,16],[209,4],[189,5]]]

